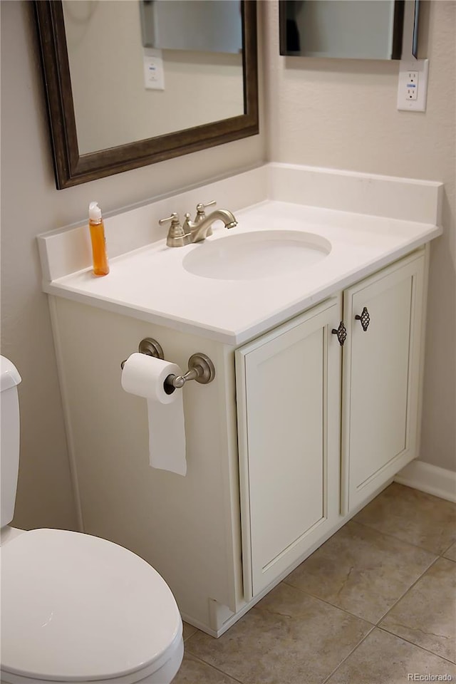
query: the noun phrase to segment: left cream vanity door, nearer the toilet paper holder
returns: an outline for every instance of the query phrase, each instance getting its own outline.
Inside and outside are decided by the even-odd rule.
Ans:
[[[332,298],[235,354],[246,599],[338,517],[340,316]]]

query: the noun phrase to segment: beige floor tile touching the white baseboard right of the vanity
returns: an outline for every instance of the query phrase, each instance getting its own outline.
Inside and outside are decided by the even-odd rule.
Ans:
[[[353,520],[435,554],[442,554],[456,540],[456,504],[397,482]]]

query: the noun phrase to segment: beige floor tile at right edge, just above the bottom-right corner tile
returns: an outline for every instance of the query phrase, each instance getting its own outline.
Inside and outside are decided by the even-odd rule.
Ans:
[[[456,662],[456,563],[438,559],[380,626]]]

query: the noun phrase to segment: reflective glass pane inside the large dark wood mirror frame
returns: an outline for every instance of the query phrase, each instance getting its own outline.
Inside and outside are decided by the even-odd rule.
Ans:
[[[177,19],[180,5],[195,26],[190,16]],[[218,5],[218,14],[209,11]],[[232,21],[220,14],[226,5]],[[64,0],[63,16],[81,155],[244,114],[242,50],[212,52],[204,40],[242,46],[239,1]],[[162,35],[155,48],[145,39],[148,16],[149,34]],[[195,31],[189,45],[184,36]],[[166,36],[186,49],[157,50],[172,44]]]

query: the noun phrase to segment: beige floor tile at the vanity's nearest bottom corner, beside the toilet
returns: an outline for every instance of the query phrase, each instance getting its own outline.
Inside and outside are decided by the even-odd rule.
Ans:
[[[185,647],[243,684],[320,684],[370,628],[282,583],[218,639],[198,631]]]

